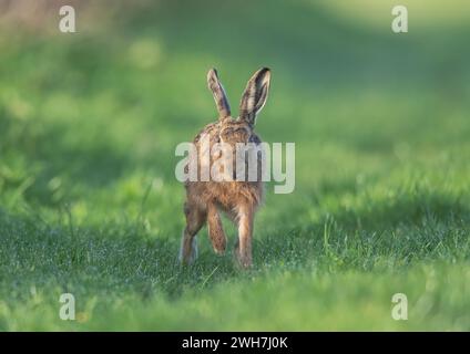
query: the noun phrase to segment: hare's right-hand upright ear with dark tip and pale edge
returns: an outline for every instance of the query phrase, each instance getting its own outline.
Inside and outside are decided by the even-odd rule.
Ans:
[[[267,67],[259,69],[249,79],[239,104],[239,118],[255,124],[256,115],[263,110],[269,91],[270,71]]]

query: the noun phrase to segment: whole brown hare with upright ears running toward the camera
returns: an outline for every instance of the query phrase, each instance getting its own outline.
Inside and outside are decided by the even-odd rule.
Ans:
[[[270,71],[267,67],[258,70],[249,79],[239,105],[239,116],[232,117],[228,100],[222,86],[217,71],[212,69],[207,73],[208,88],[214,95],[218,111],[218,119],[206,125],[194,139],[197,154],[204,153],[202,139],[206,137],[212,147],[217,143],[228,143],[234,150],[236,144],[248,144],[260,146],[259,137],[254,133],[256,115],[263,108],[270,82]],[[210,163],[213,164],[221,155],[214,154],[210,149]],[[207,153],[207,152],[206,152]],[[191,263],[197,257],[196,233],[207,221],[208,236],[214,251],[223,254],[226,248],[226,237],[222,228],[219,212],[224,212],[238,228],[238,240],[236,242],[235,256],[243,268],[252,266],[252,237],[253,223],[256,209],[263,199],[263,180],[260,178],[262,154],[256,152],[255,165],[257,178],[255,179],[233,179],[233,180],[207,180],[198,178],[196,181],[185,181],[186,202],[184,214],[186,216],[186,227],[183,231],[180,260],[183,263]],[[197,156],[198,156],[197,155]],[[194,155],[190,158],[197,158],[196,165],[202,167],[200,157]],[[233,159],[232,159],[233,160]],[[248,158],[243,163],[248,164]],[[185,170],[187,171],[187,165]],[[198,168],[201,170],[201,168]]]

